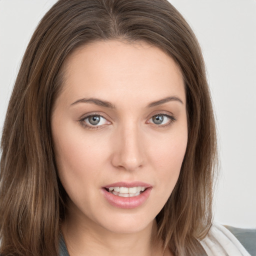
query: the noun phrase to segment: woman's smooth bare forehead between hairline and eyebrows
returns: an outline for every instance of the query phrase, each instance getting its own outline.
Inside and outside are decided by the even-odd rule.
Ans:
[[[86,44],[68,56],[63,70],[63,90],[73,100],[82,96],[149,100],[179,94],[185,101],[180,68],[170,56],[146,42]]]

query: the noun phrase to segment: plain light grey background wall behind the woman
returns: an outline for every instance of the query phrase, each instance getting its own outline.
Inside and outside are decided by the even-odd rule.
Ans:
[[[56,0],[0,0],[0,130],[25,47]],[[215,107],[215,220],[256,227],[256,0],[170,0],[202,47]]]

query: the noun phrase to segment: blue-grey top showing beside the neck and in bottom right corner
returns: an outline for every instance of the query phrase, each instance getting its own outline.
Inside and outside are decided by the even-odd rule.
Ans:
[[[225,227],[237,238],[237,240],[239,240],[251,256],[256,256],[256,229],[245,229],[232,226]],[[59,256],[69,256],[63,236],[61,236],[59,241]]]

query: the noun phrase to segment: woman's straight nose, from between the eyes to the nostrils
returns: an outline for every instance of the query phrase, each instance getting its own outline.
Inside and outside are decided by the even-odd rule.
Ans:
[[[119,128],[114,134],[112,165],[133,171],[144,164],[142,134],[136,125]]]

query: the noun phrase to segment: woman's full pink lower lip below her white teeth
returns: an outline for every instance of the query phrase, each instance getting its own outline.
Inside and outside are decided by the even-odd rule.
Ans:
[[[151,187],[146,188],[142,193],[136,196],[122,197],[114,195],[108,192],[105,188],[102,188],[102,192],[106,200],[115,207],[123,209],[133,209],[142,205],[151,192]]]

